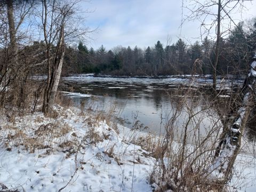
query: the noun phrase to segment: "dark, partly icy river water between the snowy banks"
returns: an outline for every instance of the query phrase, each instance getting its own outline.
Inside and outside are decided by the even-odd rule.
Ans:
[[[230,82],[219,79],[219,98],[228,99],[231,86],[236,87],[242,83],[241,80]],[[107,113],[114,111],[116,116],[123,119],[127,127],[132,128],[137,122],[137,128],[141,130],[162,133],[164,126],[178,108],[181,111],[177,118],[180,125],[186,123],[187,110],[190,108],[194,112],[209,108],[207,105],[209,105],[208,97],[211,92],[207,90],[211,84],[212,79],[187,76],[150,79],[81,75],[64,77],[61,89],[66,91],[63,94],[68,95],[76,107],[80,108],[83,103],[85,109],[103,110]],[[180,107],[182,98],[186,100],[185,108]],[[209,113],[214,117],[208,117]],[[210,127],[213,122],[212,118],[218,119],[214,110],[199,114],[201,117],[198,119],[202,119],[201,124],[204,126],[202,132],[205,132],[205,127]]]

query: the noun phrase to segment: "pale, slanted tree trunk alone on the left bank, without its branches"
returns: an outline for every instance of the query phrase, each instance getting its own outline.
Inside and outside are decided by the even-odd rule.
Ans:
[[[52,112],[52,106],[54,104],[54,101],[57,95],[58,86],[59,86],[64,56],[65,56],[65,42],[64,42],[64,24],[63,24],[60,29],[60,38],[59,38],[58,46],[56,48],[55,55],[53,58],[53,66],[52,66],[51,76],[50,76],[50,85],[46,86],[46,89],[45,89],[44,104],[42,109],[45,115],[49,115],[49,113]],[[50,59],[49,59],[49,62],[50,62]],[[50,68],[48,70],[50,70]],[[49,79],[47,79],[47,82],[49,82],[48,80]]]

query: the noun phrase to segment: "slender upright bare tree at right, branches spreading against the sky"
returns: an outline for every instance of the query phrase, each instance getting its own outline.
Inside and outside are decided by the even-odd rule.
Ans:
[[[211,61],[214,92],[216,91],[217,85],[218,61],[221,46],[220,41],[223,35],[227,34],[229,31],[230,23],[233,23],[233,25],[236,26],[236,23],[231,19],[230,15],[238,9],[244,8],[243,2],[244,1],[237,0],[207,0],[202,3],[198,0],[191,0],[189,1],[189,5],[186,6],[189,10],[189,14],[185,20],[199,20],[201,22],[201,28],[208,34],[210,33],[210,30],[215,27],[216,42],[214,60]],[[217,13],[214,12],[215,7],[218,8]]]

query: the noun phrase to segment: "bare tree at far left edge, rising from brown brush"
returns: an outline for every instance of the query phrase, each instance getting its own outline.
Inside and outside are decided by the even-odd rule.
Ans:
[[[23,102],[24,79],[26,79],[27,63],[20,61],[22,46],[20,44],[19,33],[23,21],[31,12],[35,5],[34,0],[27,1],[1,1],[0,15],[0,38],[1,38],[1,78],[0,91],[1,105],[8,98],[14,106],[20,106]],[[8,89],[7,89],[8,87]],[[9,93],[7,94],[7,90]],[[5,105],[6,106],[6,105]]]

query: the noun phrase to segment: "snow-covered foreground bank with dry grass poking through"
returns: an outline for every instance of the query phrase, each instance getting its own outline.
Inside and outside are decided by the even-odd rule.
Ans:
[[[116,129],[77,109],[56,110],[57,118],[1,118],[0,183],[19,191],[153,191],[155,159],[131,143],[146,133]],[[255,165],[252,155],[238,155],[230,184],[237,189],[230,191],[256,190]]]

